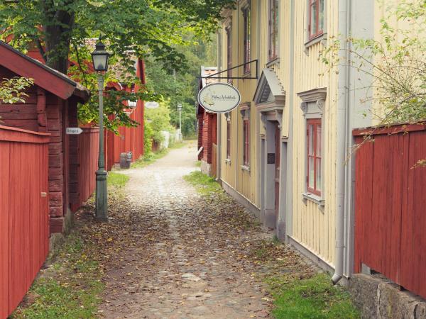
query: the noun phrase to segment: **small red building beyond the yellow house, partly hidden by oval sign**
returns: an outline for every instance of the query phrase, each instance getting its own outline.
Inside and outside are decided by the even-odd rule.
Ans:
[[[205,79],[217,72],[217,67],[201,67],[199,89],[216,82],[214,78]],[[209,176],[216,176],[217,171],[217,114],[197,106],[198,121],[198,159],[201,161],[201,171]]]

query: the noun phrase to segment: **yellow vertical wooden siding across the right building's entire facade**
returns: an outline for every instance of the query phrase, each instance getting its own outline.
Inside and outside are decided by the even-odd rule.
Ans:
[[[241,1],[239,1],[241,3]],[[258,59],[260,71],[268,63],[268,2],[266,0],[251,1],[251,59]],[[327,17],[327,37],[334,37],[338,32],[339,6],[338,0],[325,1]],[[280,27],[279,27],[279,59],[280,62],[271,66],[278,75],[281,86],[285,90],[285,107],[283,109],[282,137],[293,138],[293,154],[288,154],[292,159],[293,180],[288,181],[290,194],[293,197],[293,224],[287,225],[289,233],[293,234],[295,240],[324,259],[327,263],[334,264],[335,255],[335,223],[336,223],[336,160],[337,160],[337,90],[338,75],[327,72],[327,67],[320,59],[320,52],[326,43],[316,43],[305,47],[307,33],[307,1],[294,0],[294,46],[290,47],[290,0],[280,1]],[[260,11],[259,11],[260,9]],[[382,10],[383,9],[376,9]],[[383,15],[383,12],[381,13]],[[232,16],[232,57],[233,66],[243,62],[243,17],[241,5],[231,12]],[[380,15],[379,15],[380,16]],[[377,21],[380,17],[377,18]],[[376,27],[378,22],[376,23]],[[222,37],[222,55],[220,69],[226,69],[226,31],[222,26],[219,31]],[[290,61],[290,52],[293,50],[293,60]],[[290,74],[290,66],[294,71]],[[252,65],[254,68],[255,65]],[[254,76],[255,70],[251,75]],[[234,75],[242,76],[242,68]],[[259,74],[260,75],[260,74]],[[225,80],[223,80],[225,82]],[[290,83],[293,83],[293,91],[290,91]],[[231,162],[226,159],[226,119],[222,115],[222,179],[231,187],[246,197],[255,206],[260,206],[260,193],[258,189],[260,182],[258,178],[258,153],[261,145],[258,144],[263,132],[263,125],[259,119],[256,106],[253,103],[253,94],[256,91],[256,80],[234,79],[234,86],[241,92],[241,103],[250,103],[250,138],[251,157],[250,171],[241,169],[243,164],[243,126],[242,116],[239,109],[231,113]],[[297,93],[310,89],[327,88],[327,99],[322,109],[322,121],[324,123],[322,132],[324,134],[324,145],[322,145],[322,162],[324,171],[324,207],[320,208],[317,203],[302,197],[305,191],[305,118],[300,109],[301,100]],[[291,99],[290,99],[291,96]],[[293,100],[293,105],[290,105]],[[290,118],[290,108],[293,117]],[[292,125],[290,125],[290,121]],[[293,129],[290,131],[290,126]]]

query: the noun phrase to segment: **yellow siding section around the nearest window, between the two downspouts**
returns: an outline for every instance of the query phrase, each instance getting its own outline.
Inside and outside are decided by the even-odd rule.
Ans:
[[[295,47],[294,47],[294,92],[293,101],[293,237],[317,254],[329,264],[334,264],[334,233],[335,233],[335,161],[336,161],[336,125],[333,117],[336,113],[335,98],[337,94],[337,75],[328,74],[320,61],[322,44],[317,43],[305,48],[305,29],[307,18],[305,1],[295,1]],[[337,34],[337,1],[327,1],[327,33]],[[317,203],[302,198],[305,191],[305,118],[299,108],[298,92],[327,87],[327,99],[323,106],[322,128],[325,134],[323,145],[324,161],[324,208]]]

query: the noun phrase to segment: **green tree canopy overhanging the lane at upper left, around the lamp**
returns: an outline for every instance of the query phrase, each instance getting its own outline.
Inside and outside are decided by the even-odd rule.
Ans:
[[[11,45],[24,52],[36,47],[47,65],[67,74],[69,58],[80,62],[80,73],[87,73],[84,61],[90,61],[92,50],[87,39],[102,37],[111,64],[120,65],[121,74],[133,76],[122,79],[117,72],[109,72],[107,77],[135,84],[137,58],[150,57],[168,72],[185,69],[185,55],[176,49],[185,43],[182,30],[207,36],[217,28],[222,9],[233,5],[234,0],[0,0],[1,38],[13,38]],[[93,96],[80,112],[87,121],[96,118],[96,80],[87,76],[82,84],[89,86]],[[125,118],[115,97],[111,103],[106,101],[106,115],[118,116],[124,121],[121,124],[136,125]],[[107,123],[107,128],[114,130],[119,120]]]

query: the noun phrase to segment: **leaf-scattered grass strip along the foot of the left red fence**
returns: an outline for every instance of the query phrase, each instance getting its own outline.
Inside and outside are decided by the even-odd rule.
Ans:
[[[35,279],[26,298],[11,318],[96,318],[104,285],[98,263],[87,257],[80,233],[67,236],[57,261]]]

